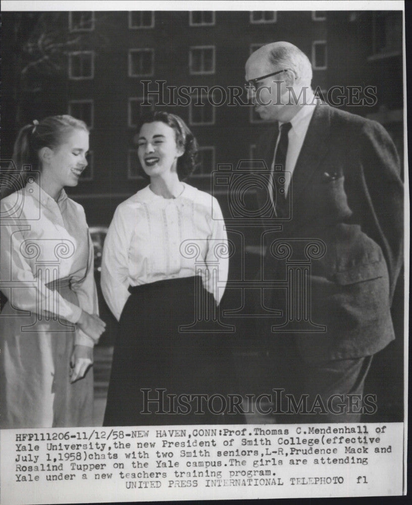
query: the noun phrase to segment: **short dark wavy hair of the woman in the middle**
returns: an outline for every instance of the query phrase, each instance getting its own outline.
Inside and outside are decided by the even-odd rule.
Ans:
[[[178,147],[183,147],[184,149],[183,155],[177,160],[177,175],[179,180],[186,179],[198,166],[197,157],[199,146],[196,138],[193,136],[193,133],[189,130],[182,118],[169,112],[158,111],[142,115],[138,123],[137,131],[139,132],[145,123],[154,123],[155,121],[165,123],[175,130],[176,145]],[[149,177],[140,166],[139,160],[138,165],[143,173],[143,176],[148,179]]]

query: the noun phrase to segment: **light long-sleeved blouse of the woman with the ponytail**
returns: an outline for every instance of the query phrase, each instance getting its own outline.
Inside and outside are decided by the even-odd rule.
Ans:
[[[30,180],[20,191],[2,198],[0,222],[0,287],[15,310],[42,317],[52,314],[73,324],[82,309],[98,313],[86,217],[64,189],[55,201]],[[70,283],[80,307],[49,289],[57,279]],[[75,343],[93,346],[93,340],[77,327]]]

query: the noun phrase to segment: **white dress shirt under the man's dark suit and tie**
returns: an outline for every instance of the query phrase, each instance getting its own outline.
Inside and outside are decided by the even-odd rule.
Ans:
[[[292,125],[292,128],[288,132],[288,150],[286,153],[285,172],[290,173],[290,178],[285,178],[285,195],[288,192],[290,180],[292,178],[293,171],[295,169],[296,162],[299,157],[307,129],[309,127],[309,123],[311,122],[313,113],[315,112],[316,104],[317,101],[314,99],[314,95],[308,94],[306,96],[306,104],[303,105],[299,112],[289,121],[289,123]],[[279,135],[276,141],[275,153],[280,139],[280,127],[282,124],[283,123],[279,122]],[[272,171],[274,170],[274,164],[275,156],[273,157],[272,161]]]

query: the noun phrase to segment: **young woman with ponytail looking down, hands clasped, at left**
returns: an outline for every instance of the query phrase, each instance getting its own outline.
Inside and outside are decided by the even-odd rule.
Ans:
[[[84,210],[63,189],[78,184],[88,146],[87,126],[68,115],[33,121],[15,142],[1,201],[2,428],[92,424],[92,349],[105,323]]]

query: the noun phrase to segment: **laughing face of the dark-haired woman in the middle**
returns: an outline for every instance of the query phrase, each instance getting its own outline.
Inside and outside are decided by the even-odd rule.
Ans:
[[[183,153],[183,148],[176,144],[175,130],[166,123],[153,121],[140,128],[137,154],[149,177],[176,172],[177,159]]]

